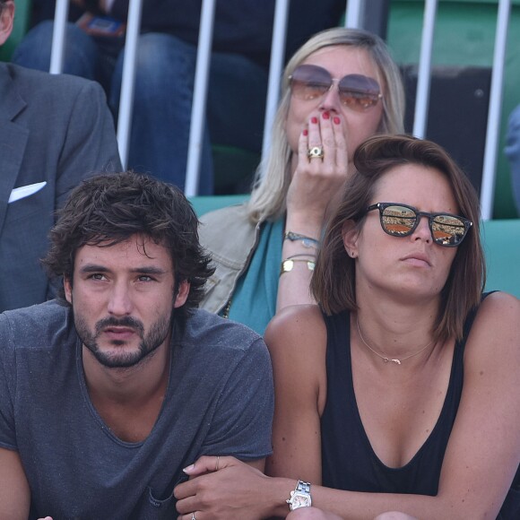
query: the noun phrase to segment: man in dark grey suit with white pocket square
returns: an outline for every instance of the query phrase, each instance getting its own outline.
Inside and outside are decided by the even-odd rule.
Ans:
[[[0,0],[0,45],[13,17]],[[53,294],[39,258],[56,209],[82,178],[121,169],[98,83],[0,63],[0,312]]]

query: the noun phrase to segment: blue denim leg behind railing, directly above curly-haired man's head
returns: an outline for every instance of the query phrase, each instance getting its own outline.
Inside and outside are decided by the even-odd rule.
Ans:
[[[118,57],[110,105],[119,104],[124,52]],[[196,48],[164,33],[139,39],[128,165],[184,188]],[[200,193],[212,193],[209,135],[204,134]]]

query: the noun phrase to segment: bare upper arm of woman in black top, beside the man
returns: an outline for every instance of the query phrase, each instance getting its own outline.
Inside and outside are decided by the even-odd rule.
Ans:
[[[317,306],[286,308],[265,332],[273,361],[273,455],[266,473],[321,483],[326,330]]]

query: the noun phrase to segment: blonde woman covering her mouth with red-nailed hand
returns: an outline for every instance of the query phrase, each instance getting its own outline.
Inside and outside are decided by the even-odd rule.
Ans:
[[[277,310],[314,301],[325,214],[353,172],[356,147],[403,132],[403,99],[386,44],[367,31],[325,30],[292,56],[250,199],[202,218],[201,242],[217,268],[203,308],[263,334]]]

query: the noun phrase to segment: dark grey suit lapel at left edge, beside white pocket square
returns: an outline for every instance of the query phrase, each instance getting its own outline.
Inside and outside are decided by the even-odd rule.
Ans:
[[[29,138],[29,129],[14,122],[26,105],[16,90],[10,69],[0,64],[0,231]]]

